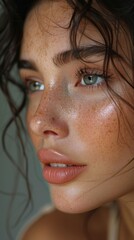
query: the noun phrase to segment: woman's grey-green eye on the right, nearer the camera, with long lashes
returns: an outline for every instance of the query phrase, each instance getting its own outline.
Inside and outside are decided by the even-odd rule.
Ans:
[[[82,77],[81,85],[84,86],[97,86],[105,80],[103,75],[98,74],[86,74]]]

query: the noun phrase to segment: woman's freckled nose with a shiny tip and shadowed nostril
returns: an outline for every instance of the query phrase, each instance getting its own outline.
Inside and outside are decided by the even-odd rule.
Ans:
[[[40,103],[30,119],[30,129],[39,136],[64,138],[68,135],[68,121],[62,99],[55,93],[42,96]]]

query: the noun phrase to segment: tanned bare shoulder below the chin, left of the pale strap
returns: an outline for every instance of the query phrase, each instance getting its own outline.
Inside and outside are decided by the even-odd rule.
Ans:
[[[59,210],[53,210],[36,220],[28,228],[21,240],[85,240],[87,236],[83,231],[83,223],[85,223],[87,216],[85,214],[67,214]],[[100,210],[97,215],[93,216],[88,229],[90,235],[93,236],[91,239],[106,239],[107,210],[106,212]],[[105,224],[101,219],[105,220]]]

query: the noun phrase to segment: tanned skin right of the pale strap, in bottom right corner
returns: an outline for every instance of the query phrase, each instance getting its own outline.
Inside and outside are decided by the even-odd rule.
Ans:
[[[120,240],[134,239],[134,192],[118,200]]]

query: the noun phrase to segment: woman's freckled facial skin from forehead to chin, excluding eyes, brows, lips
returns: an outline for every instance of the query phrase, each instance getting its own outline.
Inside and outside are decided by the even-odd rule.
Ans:
[[[71,17],[69,7],[63,1],[52,5],[41,3],[37,12],[40,13],[38,18],[35,10],[27,17],[20,57],[34,61],[38,71],[21,70],[21,75],[43,82],[45,90],[30,95],[28,130],[37,151],[40,148],[54,149],[77,164],[87,165],[73,181],[51,185],[52,199],[62,211],[78,213],[127,197],[134,190],[133,171],[120,175],[118,172],[123,172],[123,166],[134,157],[134,139],[129,134],[128,125],[109,97],[106,86],[92,89],[75,86],[74,71],[83,66],[79,60],[61,67],[54,65],[53,56],[70,49],[69,31],[56,25],[60,21],[66,26]],[[90,32],[92,35],[95,29],[91,27]],[[101,39],[97,32],[95,39]],[[90,40],[83,37],[81,41]],[[94,64],[89,65],[97,68]],[[125,98],[120,81],[112,84]],[[125,89],[126,92],[132,91],[127,85]],[[130,123],[131,133],[134,133],[133,111],[118,98],[116,101]],[[133,162],[126,170],[131,167]]]

